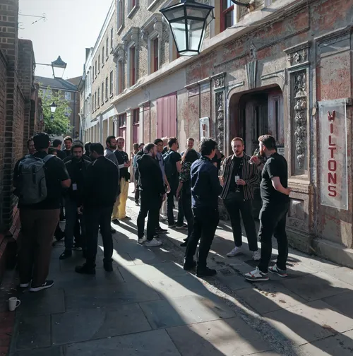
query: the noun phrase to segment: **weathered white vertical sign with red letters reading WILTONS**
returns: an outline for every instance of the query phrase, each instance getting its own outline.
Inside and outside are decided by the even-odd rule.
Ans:
[[[348,210],[346,101],[318,103],[321,205]]]

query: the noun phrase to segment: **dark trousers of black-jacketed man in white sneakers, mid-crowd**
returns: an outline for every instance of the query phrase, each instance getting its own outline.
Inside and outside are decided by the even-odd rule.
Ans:
[[[158,226],[160,204],[161,197],[159,194],[150,194],[147,191],[141,191],[140,212],[138,213],[137,218],[137,235],[139,239],[143,238],[143,232],[145,230],[145,218],[147,214],[147,239],[148,241],[153,239],[156,227]]]

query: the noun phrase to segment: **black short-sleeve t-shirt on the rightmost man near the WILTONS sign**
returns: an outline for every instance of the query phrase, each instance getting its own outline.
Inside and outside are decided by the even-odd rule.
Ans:
[[[261,198],[264,203],[287,203],[289,196],[280,193],[273,188],[271,178],[279,177],[282,186],[288,187],[287,160],[277,152],[268,158],[263,166],[262,180],[260,184]]]

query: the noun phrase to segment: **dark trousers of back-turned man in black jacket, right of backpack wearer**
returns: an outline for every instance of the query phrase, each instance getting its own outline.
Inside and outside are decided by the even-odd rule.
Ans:
[[[86,227],[86,263],[89,267],[95,268],[95,258],[97,256],[98,230],[102,234],[104,248],[104,263],[112,262],[113,237],[110,226],[112,217],[112,206],[97,206],[85,208],[84,219]]]

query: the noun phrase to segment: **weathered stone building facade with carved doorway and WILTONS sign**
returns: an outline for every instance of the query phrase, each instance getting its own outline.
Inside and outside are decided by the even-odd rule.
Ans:
[[[215,6],[203,51],[179,58],[159,12],[173,1],[114,1],[111,132],[127,151],[213,136],[225,155],[234,136],[251,154],[272,134],[289,163],[290,243],[353,266],[353,0],[202,2]]]

